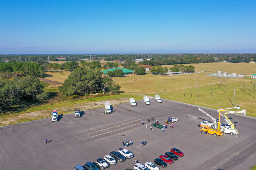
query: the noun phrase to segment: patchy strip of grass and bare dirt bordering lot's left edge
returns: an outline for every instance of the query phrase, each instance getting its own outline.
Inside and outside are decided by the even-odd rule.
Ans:
[[[75,110],[75,108],[80,108],[81,111],[84,111],[84,110],[88,110],[88,109],[104,107],[105,102],[109,102],[110,105],[114,105],[114,104],[118,104],[118,103],[129,102],[129,98],[116,98],[116,99],[110,99],[110,100],[102,100],[102,101],[97,101],[97,102],[76,104],[76,105],[65,106],[65,107],[57,107],[54,109],[41,110],[41,111],[37,111],[37,112],[13,115],[13,116],[9,116],[6,118],[0,118],[0,125],[7,125],[7,124],[13,124],[13,123],[17,123],[17,122],[26,121],[26,120],[50,117],[53,110],[57,110],[58,115],[61,115],[61,114],[73,112]]]

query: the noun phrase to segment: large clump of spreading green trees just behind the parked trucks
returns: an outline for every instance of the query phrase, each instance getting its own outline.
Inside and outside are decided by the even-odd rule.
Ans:
[[[118,93],[120,86],[103,72],[90,68],[76,68],[68,79],[59,86],[61,93],[67,96],[86,96],[90,93]]]

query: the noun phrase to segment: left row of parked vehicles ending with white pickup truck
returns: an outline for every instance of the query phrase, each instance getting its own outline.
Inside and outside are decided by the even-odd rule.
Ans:
[[[97,166],[100,166],[102,169],[105,169],[109,167],[110,165],[114,165],[118,162],[123,162],[126,159],[132,158],[134,155],[132,152],[130,152],[127,149],[120,148],[117,152],[112,151],[109,153],[109,155],[105,155],[104,159],[99,158],[96,161]],[[99,170],[99,168],[96,166],[95,163],[92,162],[86,162],[84,164],[84,167],[79,165],[76,165],[74,170]]]

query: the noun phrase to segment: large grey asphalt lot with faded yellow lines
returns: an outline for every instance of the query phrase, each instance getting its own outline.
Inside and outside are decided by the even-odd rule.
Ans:
[[[58,122],[45,118],[0,127],[0,169],[73,169],[77,164],[96,162],[111,151],[123,148],[122,141],[126,139],[133,142],[127,149],[134,157],[106,169],[133,169],[134,159],[143,164],[153,162],[171,148],[181,150],[184,156],[161,169],[240,170],[255,165],[255,118],[229,114],[238,128],[238,137],[226,134],[217,138],[200,133],[198,123],[202,119],[212,120],[198,113],[199,106],[150,100],[151,105],[145,105],[143,100],[137,101],[135,107],[130,103],[114,105],[112,114],[103,114],[104,108],[97,108],[82,112],[79,118],[71,113],[59,115]],[[215,110],[202,110],[218,117]],[[160,124],[165,124],[168,117],[179,118],[179,122],[164,132],[158,128],[151,131],[153,122],[148,123],[147,117],[152,116]],[[148,128],[141,125],[141,120]],[[223,119],[221,122],[225,123]],[[147,142],[144,147],[140,145],[142,140]]]

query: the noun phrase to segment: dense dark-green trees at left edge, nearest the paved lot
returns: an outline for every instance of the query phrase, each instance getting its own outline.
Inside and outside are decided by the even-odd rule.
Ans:
[[[33,76],[0,79],[0,112],[8,107],[25,102],[42,101],[48,98],[44,86]]]

